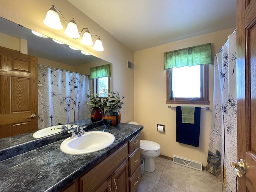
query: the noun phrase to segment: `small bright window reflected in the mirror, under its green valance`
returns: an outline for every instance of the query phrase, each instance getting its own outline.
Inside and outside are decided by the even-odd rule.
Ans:
[[[107,97],[109,93],[110,77],[94,78],[92,80],[92,90],[94,94],[101,94]]]

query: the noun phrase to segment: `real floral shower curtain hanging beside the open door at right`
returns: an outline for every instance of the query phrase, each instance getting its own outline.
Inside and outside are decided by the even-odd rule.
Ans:
[[[236,115],[236,34],[228,36],[222,51],[214,56],[214,95],[207,169],[218,176],[222,190],[236,191],[237,162]]]

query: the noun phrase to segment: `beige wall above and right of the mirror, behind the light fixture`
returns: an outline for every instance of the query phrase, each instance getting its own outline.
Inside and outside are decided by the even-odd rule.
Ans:
[[[75,18],[79,30],[87,27],[91,34],[99,35],[104,46],[104,51],[96,52],[92,49],[92,46],[82,45],[80,43],[81,37],[78,40],[68,38],[64,34],[66,24],[62,19],[63,30],[53,30],[45,26],[43,20],[52,4],[62,12],[66,20],[70,20],[72,17]],[[113,91],[120,92],[120,94],[126,97],[124,105],[122,105],[121,121],[129,122],[133,120],[134,73],[132,70],[127,69],[127,60],[134,62],[134,54],[116,38],[106,32],[106,30],[67,0],[1,0],[0,16],[112,63]],[[93,36],[93,40],[96,40],[95,36]]]

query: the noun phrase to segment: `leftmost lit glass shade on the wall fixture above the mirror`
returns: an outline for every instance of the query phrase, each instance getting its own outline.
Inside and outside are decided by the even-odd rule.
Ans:
[[[60,17],[58,15],[56,9],[53,6],[48,10],[43,22],[46,26],[48,26],[52,29],[56,29],[56,30],[63,29],[63,26],[60,22]]]

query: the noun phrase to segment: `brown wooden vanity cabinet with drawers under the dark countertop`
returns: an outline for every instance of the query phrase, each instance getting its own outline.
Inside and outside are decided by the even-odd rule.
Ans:
[[[136,192],[140,184],[140,134],[62,192]]]

